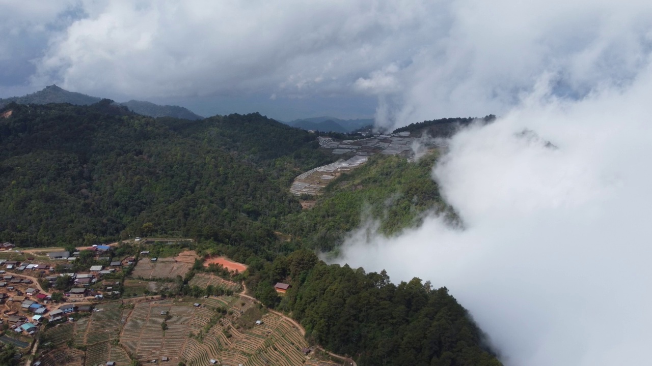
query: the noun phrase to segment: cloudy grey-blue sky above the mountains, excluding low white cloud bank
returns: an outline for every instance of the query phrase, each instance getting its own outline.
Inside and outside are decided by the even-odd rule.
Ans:
[[[539,77],[629,83],[646,1],[1,0],[0,97],[70,91],[290,120],[502,115]]]

